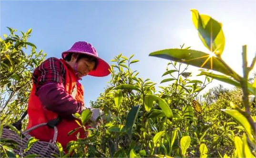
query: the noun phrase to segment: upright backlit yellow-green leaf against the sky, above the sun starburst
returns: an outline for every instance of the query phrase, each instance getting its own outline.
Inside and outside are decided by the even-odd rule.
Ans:
[[[225,47],[222,24],[208,15],[200,15],[196,9],[191,9],[191,12],[193,23],[205,47],[221,56]]]

